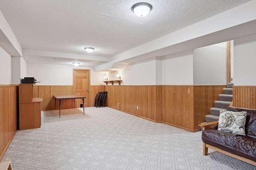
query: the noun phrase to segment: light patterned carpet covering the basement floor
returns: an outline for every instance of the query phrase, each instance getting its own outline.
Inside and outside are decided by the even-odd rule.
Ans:
[[[42,126],[17,131],[2,160],[14,170],[253,170],[190,133],[109,107],[42,111]]]

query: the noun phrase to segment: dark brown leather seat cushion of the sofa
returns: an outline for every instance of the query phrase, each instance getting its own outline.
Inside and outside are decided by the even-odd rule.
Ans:
[[[202,141],[256,162],[256,139],[254,138],[209,129],[202,131]]]

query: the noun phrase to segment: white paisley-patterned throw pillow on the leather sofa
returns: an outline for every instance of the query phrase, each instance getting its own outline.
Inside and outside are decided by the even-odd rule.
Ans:
[[[236,135],[245,135],[246,111],[220,111],[218,131],[234,133]]]

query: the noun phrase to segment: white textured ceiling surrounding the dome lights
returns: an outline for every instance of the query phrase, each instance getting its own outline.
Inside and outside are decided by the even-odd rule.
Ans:
[[[84,59],[39,59],[39,55],[24,53],[26,62],[70,64],[84,60],[84,66],[98,66],[108,61],[97,57],[114,57],[248,1],[147,0],[153,9],[144,18],[131,10],[138,0],[0,0],[0,10],[22,49],[85,55]],[[84,47],[95,50],[86,53]],[[95,61],[88,55],[95,56]]]

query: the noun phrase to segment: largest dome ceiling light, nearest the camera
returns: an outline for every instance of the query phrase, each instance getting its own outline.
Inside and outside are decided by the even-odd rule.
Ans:
[[[138,4],[134,4],[132,6],[132,11],[136,14],[138,17],[144,17],[148,15],[148,13],[152,10],[152,5],[146,3],[146,2],[140,2]]]

